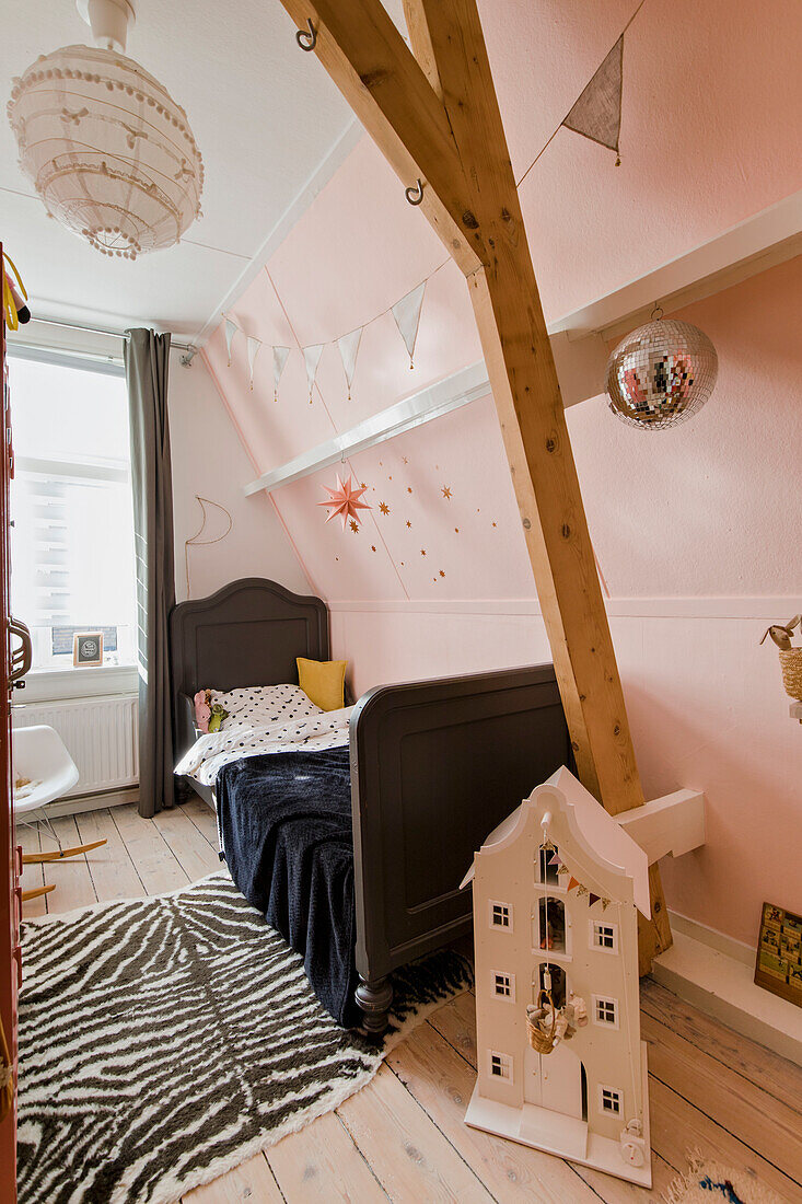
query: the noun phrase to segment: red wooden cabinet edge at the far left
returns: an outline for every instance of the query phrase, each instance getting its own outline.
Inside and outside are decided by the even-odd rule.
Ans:
[[[0,247],[0,262],[2,248]],[[0,1019],[11,1058],[13,1099],[0,1121],[0,1204],[17,1199],[17,992],[22,976],[19,917],[22,898],[22,850],[14,845],[13,793],[11,783],[11,608],[8,595],[8,483],[13,472],[11,408],[6,370],[6,331],[0,318],[0,377],[2,382],[2,454],[0,455]],[[0,1041],[0,1046],[2,1043]],[[4,1070],[0,1069],[0,1076]],[[2,1079],[0,1078],[0,1082]]]

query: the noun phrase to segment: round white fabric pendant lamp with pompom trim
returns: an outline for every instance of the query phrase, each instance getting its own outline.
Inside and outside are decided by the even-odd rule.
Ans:
[[[200,217],[204,160],[187,113],[123,53],[130,0],[77,0],[95,46],[65,46],[13,81],[8,120],[47,212],[106,255],[178,242]]]

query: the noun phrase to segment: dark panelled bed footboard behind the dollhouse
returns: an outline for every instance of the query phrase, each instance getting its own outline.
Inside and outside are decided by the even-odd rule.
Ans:
[[[471,932],[459,884],[474,851],[572,760],[552,665],[362,695],[350,720],[358,1002],[384,1002],[390,970]]]

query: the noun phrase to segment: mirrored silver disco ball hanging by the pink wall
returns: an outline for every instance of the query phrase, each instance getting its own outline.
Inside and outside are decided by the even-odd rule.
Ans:
[[[643,431],[676,426],[715,388],[719,358],[707,335],[673,318],[648,321],[607,361],[607,396],[617,418]]]

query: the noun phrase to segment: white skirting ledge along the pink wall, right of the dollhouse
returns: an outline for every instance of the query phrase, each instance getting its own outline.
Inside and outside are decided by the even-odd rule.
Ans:
[[[694,925],[690,931],[696,934],[691,937],[689,926],[674,923],[673,917],[672,928],[673,945],[655,958],[651,968],[655,982],[743,1037],[802,1066],[802,1008],[755,984],[754,961],[748,963],[742,952],[748,946],[727,951],[720,934]]]

